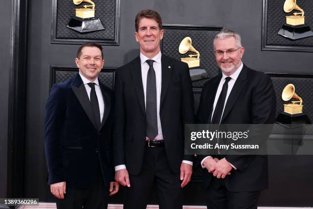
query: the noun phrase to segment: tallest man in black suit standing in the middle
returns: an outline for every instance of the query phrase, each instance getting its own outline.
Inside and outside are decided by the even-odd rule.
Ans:
[[[140,11],[135,22],[140,55],[116,73],[115,179],[126,186],[126,209],[146,208],[153,182],[160,208],[182,208],[181,187],[192,173],[183,132],[193,122],[189,69],[161,54],[158,12]]]

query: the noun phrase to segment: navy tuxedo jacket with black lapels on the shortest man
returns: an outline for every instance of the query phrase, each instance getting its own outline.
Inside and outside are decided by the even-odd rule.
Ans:
[[[44,133],[49,184],[65,181],[69,187],[88,188],[97,177],[99,162],[105,186],[114,180],[110,154],[113,91],[101,82],[99,85],[104,100],[99,130],[79,74],[52,87]]]

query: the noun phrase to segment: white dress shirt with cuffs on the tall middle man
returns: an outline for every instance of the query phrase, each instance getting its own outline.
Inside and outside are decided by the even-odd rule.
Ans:
[[[154,138],[154,140],[163,140],[163,135],[162,135],[162,127],[161,127],[161,119],[160,119],[160,101],[161,101],[161,87],[162,87],[162,65],[161,65],[161,51],[155,55],[152,60],[153,62],[153,69],[155,72],[155,81],[157,85],[157,119],[158,119],[158,135]],[[140,64],[141,64],[141,77],[142,77],[142,86],[144,89],[144,95],[145,95],[145,106],[146,106],[146,91],[147,91],[147,76],[148,76],[148,70],[149,70],[149,65],[146,62],[148,57],[140,53]],[[183,160],[184,163],[192,165],[193,162],[188,161],[188,160]],[[115,171],[121,170],[121,169],[126,169],[126,165],[117,165],[115,166]]]

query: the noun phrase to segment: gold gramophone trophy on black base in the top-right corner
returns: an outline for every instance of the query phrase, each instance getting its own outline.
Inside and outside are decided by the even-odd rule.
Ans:
[[[286,0],[284,12],[289,13],[293,10],[300,12],[294,12],[292,15],[286,16],[286,24],[281,26],[278,34],[293,40],[313,36],[310,27],[304,24],[304,10],[297,5],[297,0]]]

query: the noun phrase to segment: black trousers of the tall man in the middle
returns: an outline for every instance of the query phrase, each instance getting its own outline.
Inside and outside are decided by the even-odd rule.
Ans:
[[[146,148],[139,175],[129,175],[130,187],[125,187],[124,209],[145,209],[153,183],[157,184],[160,209],[181,209],[180,174],[171,171],[165,148]]]

